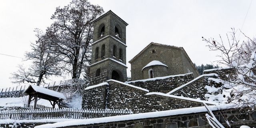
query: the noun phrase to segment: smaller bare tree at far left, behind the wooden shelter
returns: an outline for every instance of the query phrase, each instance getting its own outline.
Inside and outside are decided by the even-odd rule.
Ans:
[[[28,82],[36,83],[39,86],[43,78],[48,79],[52,75],[61,75],[58,56],[50,53],[51,48],[46,45],[48,38],[41,30],[36,29],[36,32],[38,39],[35,44],[31,43],[32,51],[25,54],[25,61],[32,60],[32,65],[27,70],[19,65],[18,71],[14,72],[11,77],[13,83]]]

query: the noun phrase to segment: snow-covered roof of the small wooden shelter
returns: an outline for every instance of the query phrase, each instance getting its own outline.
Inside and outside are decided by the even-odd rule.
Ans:
[[[61,98],[61,99],[64,99],[66,100],[66,97],[60,93],[60,92],[56,92],[54,90],[50,90],[50,89],[47,89],[47,88],[43,88],[43,87],[40,87],[40,86],[36,86],[36,85],[30,85],[36,92],[40,92],[40,93],[43,93],[43,94],[46,94],[46,95],[50,95],[50,96],[54,96],[54,97],[57,97],[57,98]],[[28,87],[30,88],[30,87]],[[26,92],[28,89],[26,89],[24,92]]]

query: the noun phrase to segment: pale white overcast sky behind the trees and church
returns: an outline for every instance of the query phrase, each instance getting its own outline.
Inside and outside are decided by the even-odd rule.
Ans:
[[[256,36],[256,1],[253,0],[89,1],[102,6],[105,12],[112,10],[129,24],[126,27],[129,69],[128,61],[150,42],[181,46],[192,62],[199,65],[211,64],[217,60],[215,56],[218,54],[209,51],[202,36],[218,39],[218,34],[224,36],[231,27],[242,29],[251,38]],[[69,2],[0,0],[0,88],[15,86],[9,80],[10,73],[17,70],[18,64],[24,63],[21,58],[31,49],[30,43],[36,40],[34,28],[45,30],[52,23],[50,16],[55,8]],[[242,35],[239,37],[244,39]]]

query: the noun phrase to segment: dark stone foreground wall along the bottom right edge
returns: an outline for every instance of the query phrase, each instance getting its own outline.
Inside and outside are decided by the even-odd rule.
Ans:
[[[218,111],[214,111],[213,113],[217,120],[225,127],[226,123],[223,116],[228,119],[232,128],[240,128],[242,125],[247,125],[251,128],[256,126],[255,110],[226,110],[222,112],[223,116]],[[196,114],[142,118],[101,124],[67,126],[64,128],[211,128],[205,114],[206,112],[201,112]]]

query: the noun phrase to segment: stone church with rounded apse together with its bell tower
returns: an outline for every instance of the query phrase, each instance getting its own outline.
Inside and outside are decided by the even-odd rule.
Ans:
[[[93,21],[92,63],[90,85],[113,79],[127,81],[126,26],[128,25],[111,10]],[[150,43],[129,61],[132,80],[194,73],[196,67],[184,48]]]

